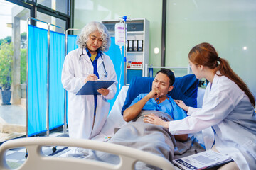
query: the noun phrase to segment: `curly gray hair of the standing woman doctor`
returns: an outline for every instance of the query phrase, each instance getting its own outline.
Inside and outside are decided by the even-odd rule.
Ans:
[[[87,25],[82,28],[81,33],[78,35],[77,45],[80,48],[86,48],[87,40],[89,39],[89,35],[98,30],[101,38],[102,38],[102,46],[100,47],[100,50],[102,52],[107,52],[110,48],[110,34],[107,31],[107,28],[103,25],[103,23],[92,21],[90,23],[87,23]]]

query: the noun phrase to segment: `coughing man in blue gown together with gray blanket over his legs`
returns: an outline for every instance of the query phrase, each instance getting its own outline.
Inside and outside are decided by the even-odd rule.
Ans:
[[[168,92],[174,88],[174,86],[172,86],[174,81],[174,73],[171,72],[171,70],[161,69],[161,71],[157,72],[152,83],[152,90],[149,94],[139,94],[139,96],[132,101],[129,108],[124,110],[123,118],[129,123],[123,125],[107,142],[150,152],[169,159],[170,161],[174,159],[174,154],[183,154],[188,151],[188,149],[191,149],[192,140],[188,140],[184,143],[176,141],[186,141],[188,135],[176,135],[175,140],[168,128],[151,123],[144,123],[143,121],[144,115],[148,114],[158,115],[159,118],[166,121],[186,117],[186,111],[183,111],[183,109],[176,105],[171,96],[168,95]],[[197,148],[193,148],[193,152],[195,149]],[[95,150],[90,150],[90,152],[80,156],[78,155],[77,157],[95,159],[111,164],[118,164],[120,161],[117,155]],[[135,168],[157,169],[144,162],[137,162]]]

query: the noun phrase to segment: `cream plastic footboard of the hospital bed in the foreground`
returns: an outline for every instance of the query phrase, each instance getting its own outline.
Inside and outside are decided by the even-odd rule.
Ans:
[[[119,164],[109,164],[90,159],[78,159],[73,157],[49,157],[43,155],[44,146],[70,146],[87,149],[99,150],[111,154],[117,154],[120,157]],[[95,140],[75,140],[69,137],[28,137],[4,142],[0,147],[0,169],[10,169],[6,164],[6,152],[9,149],[17,147],[26,147],[28,149],[28,158],[26,162],[18,167],[18,170],[50,170],[50,169],[134,169],[137,161],[154,165],[161,169],[173,170],[174,166],[167,159],[144,152],[131,147],[114,145],[107,142]]]

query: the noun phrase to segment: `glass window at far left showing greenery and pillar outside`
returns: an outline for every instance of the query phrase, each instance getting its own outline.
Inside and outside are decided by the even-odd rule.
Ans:
[[[27,8],[0,1],[0,142],[26,134]]]

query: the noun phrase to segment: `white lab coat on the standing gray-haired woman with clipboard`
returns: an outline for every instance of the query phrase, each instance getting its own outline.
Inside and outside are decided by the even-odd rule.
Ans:
[[[81,56],[82,49],[78,48],[68,53],[63,64],[61,81],[64,89],[68,91],[68,132],[69,136],[78,139],[91,139],[99,134],[102,126],[107,119],[110,110],[110,103],[107,99],[114,98],[117,92],[117,75],[114,71],[114,65],[110,57],[102,53],[102,57],[97,59],[97,72],[100,80],[114,80],[108,89],[110,93],[107,96],[97,95],[97,108],[94,119],[95,101],[93,95],[75,95],[85,84],[88,74],[93,74],[93,66],[85,49],[85,55]],[[103,60],[107,70],[105,77]],[[93,126],[93,127],[92,127]]]

